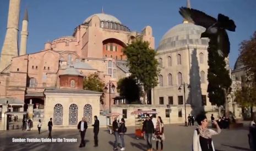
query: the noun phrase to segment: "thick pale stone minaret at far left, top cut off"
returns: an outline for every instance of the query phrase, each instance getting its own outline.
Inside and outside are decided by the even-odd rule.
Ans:
[[[19,14],[20,0],[10,0],[6,38],[1,52],[0,72],[10,64],[12,57],[18,56]]]

